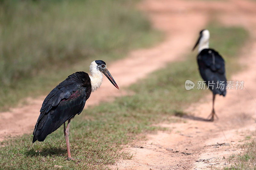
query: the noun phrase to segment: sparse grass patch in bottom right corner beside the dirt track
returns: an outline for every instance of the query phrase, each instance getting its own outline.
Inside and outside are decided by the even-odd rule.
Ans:
[[[249,139],[248,137],[245,137],[245,140]],[[253,139],[251,142],[246,142],[242,145],[239,145],[238,148],[242,149],[241,152],[238,154],[232,154],[228,159],[228,161],[230,161],[233,165],[224,169],[256,169],[255,139]]]

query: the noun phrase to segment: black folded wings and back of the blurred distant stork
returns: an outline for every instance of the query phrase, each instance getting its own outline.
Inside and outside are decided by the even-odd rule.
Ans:
[[[213,94],[226,95],[225,61],[214,49],[203,49],[197,56],[199,71]]]

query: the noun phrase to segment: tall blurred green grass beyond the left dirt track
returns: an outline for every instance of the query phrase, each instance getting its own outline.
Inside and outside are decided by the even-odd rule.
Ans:
[[[161,39],[136,1],[0,1],[0,109]]]

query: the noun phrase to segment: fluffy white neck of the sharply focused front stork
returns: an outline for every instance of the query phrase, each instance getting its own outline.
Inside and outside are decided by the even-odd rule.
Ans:
[[[91,75],[89,75],[91,79],[92,84],[92,92],[96,91],[98,88],[100,88],[100,85],[103,81],[103,76],[100,70],[97,69],[98,64],[93,61],[90,65],[90,72]]]

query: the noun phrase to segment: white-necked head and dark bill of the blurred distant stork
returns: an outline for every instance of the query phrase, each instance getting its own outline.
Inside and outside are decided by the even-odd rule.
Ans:
[[[199,44],[198,53],[200,53],[200,51],[202,51],[205,48],[209,48],[209,39],[210,39],[210,32],[207,29],[200,31],[199,38],[196,41],[196,45],[192,50],[194,51],[194,49],[198,44]]]

